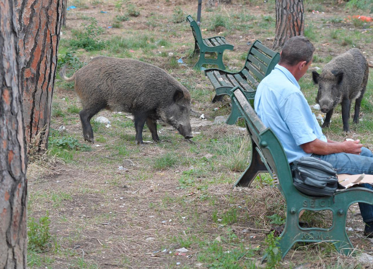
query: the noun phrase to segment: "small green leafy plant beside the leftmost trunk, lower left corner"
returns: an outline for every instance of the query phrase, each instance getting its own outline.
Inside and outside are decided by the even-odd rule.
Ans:
[[[32,217],[28,220],[27,224],[27,247],[29,250],[35,252],[43,252],[47,248],[51,247],[51,235],[49,232],[50,220],[48,213],[45,216],[40,217],[38,222],[36,222],[35,219]]]

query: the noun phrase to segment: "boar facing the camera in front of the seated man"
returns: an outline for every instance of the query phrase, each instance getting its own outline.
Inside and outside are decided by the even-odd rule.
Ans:
[[[315,84],[319,84],[316,102],[326,113],[322,127],[328,127],[333,109],[341,103],[343,130],[350,132],[348,119],[350,118],[351,102],[355,102],[354,123],[359,121],[361,99],[368,82],[369,66],[365,57],[358,49],[350,49],[335,57],[325,65],[322,74],[312,72]]]

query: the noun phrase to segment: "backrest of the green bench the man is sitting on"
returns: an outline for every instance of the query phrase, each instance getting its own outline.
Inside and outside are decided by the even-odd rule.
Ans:
[[[292,182],[292,174],[288,159],[280,140],[275,133],[260,120],[250,102],[245,97],[241,87],[237,86],[233,88],[232,92],[232,102],[236,103],[242,117],[244,117],[247,130],[257,147],[257,149],[253,148],[251,150],[259,150],[261,152],[262,157],[264,157],[262,161],[264,163],[267,162],[269,167],[273,170],[273,173],[278,177],[284,197],[297,193]],[[272,171],[269,172],[271,173]]]

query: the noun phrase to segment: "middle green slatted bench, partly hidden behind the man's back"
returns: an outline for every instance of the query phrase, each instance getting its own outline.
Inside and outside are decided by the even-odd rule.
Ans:
[[[205,70],[215,89],[216,95],[212,102],[220,101],[224,95],[229,95],[232,99],[232,88],[240,86],[244,89],[247,99],[253,100],[260,81],[266,77],[280,60],[280,54],[264,46],[256,40],[250,47],[246,57],[244,68],[239,72],[226,72],[224,70],[210,68]],[[232,102],[231,115],[226,121],[227,124],[235,124],[241,117],[235,104]]]

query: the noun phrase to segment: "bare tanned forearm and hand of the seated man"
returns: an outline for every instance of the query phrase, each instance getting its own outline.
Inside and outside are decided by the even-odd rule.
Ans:
[[[360,154],[363,145],[360,144],[360,140],[344,142],[329,142],[328,140],[328,142],[324,142],[320,139],[315,139],[311,142],[301,144],[300,147],[305,153],[313,153],[317,155],[328,155],[340,152]]]

